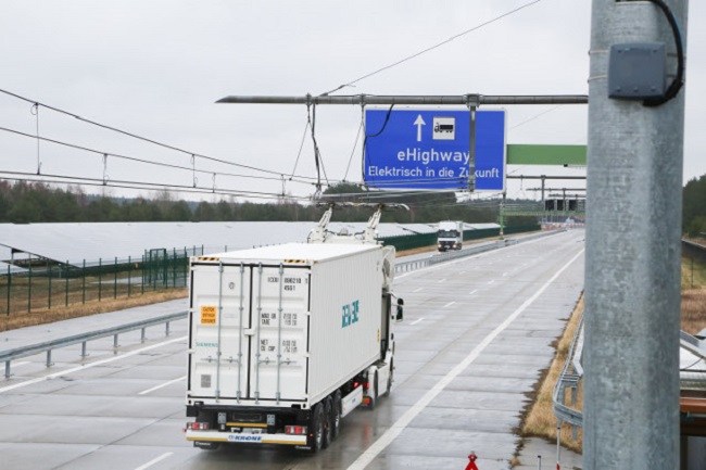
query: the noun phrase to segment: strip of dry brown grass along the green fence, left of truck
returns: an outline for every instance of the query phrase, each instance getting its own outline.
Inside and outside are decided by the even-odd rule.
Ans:
[[[150,292],[134,297],[105,300],[102,302],[90,302],[86,304],[68,305],[67,307],[53,307],[49,309],[33,309],[31,313],[12,313],[0,316],[0,331],[13,330],[15,328],[31,327],[35,325],[51,323],[53,321],[67,320],[70,318],[85,317],[93,314],[123,310],[125,308],[139,307],[141,305],[156,304],[159,302],[184,298],[187,296],[186,289],[171,289],[166,291]]]

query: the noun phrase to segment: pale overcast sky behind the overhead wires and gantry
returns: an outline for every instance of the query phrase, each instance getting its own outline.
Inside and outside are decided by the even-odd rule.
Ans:
[[[280,193],[278,174],[288,180],[294,170],[306,107],[216,100],[229,94],[319,94],[528,3],[531,0],[0,0],[0,88],[189,152],[274,174],[200,157],[192,162],[188,154],[43,107],[40,136],[219,175],[214,182],[212,174],[197,173],[194,181],[193,172],[112,156],[104,166],[100,154],[48,142],[38,149],[36,140],[7,131],[0,131],[0,169],[36,177],[40,167],[42,175],[92,178],[99,185],[105,178],[111,183],[196,182],[217,190]],[[705,3],[692,0],[689,12],[684,181],[706,174],[706,31],[694,26],[706,24]],[[541,0],[337,94],[585,94],[590,18],[589,0]],[[37,116],[31,111],[30,103],[0,94],[0,127],[35,135]],[[506,111],[508,143],[587,143],[585,105]],[[317,107],[316,137],[329,180],[361,181],[360,141],[353,152],[360,124],[358,106]],[[585,174],[582,168],[529,166],[509,166],[507,172]],[[311,136],[295,174],[316,176]],[[513,196],[535,198],[531,189],[538,186],[513,181],[508,190]],[[314,191],[311,183],[297,181],[283,189],[298,196]]]

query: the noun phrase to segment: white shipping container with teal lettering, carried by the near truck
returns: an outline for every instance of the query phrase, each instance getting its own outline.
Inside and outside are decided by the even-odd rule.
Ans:
[[[290,243],[192,259],[187,401],[319,402],[381,357],[383,249]]]

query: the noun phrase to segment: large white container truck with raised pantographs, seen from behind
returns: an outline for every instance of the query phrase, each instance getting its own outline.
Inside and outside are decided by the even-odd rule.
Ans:
[[[394,247],[327,229],[306,243],[192,257],[186,439],[327,447],[341,420],[389,394],[394,371]],[[395,297],[396,298],[396,297]],[[394,308],[393,308],[394,307]]]

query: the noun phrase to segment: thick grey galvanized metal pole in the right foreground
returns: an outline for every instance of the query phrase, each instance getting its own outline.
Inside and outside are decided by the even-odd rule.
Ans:
[[[666,0],[686,37],[686,0]],[[608,99],[614,43],[675,39],[654,3],[593,0],[585,251],[584,469],[679,468],[684,90]]]

